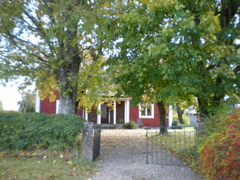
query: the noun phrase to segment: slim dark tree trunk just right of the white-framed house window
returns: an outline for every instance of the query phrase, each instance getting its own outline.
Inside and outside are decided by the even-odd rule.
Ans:
[[[158,105],[158,112],[159,112],[160,133],[167,133],[165,105],[162,101],[158,102],[157,105]]]

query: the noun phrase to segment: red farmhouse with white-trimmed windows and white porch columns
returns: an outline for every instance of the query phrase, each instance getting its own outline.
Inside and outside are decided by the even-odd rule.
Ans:
[[[50,102],[48,98],[36,100],[36,112],[57,114],[59,107],[59,95],[56,93],[56,101]],[[151,104],[150,108],[142,108],[141,105],[130,107],[131,98],[119,98],[114,102],[113,108],[109,108],[107,104],[99,104],[97,109],[92,109],[90,113],[84,111],[83,108],[78,109],[77,115],[83,117],[87,121],[93,121],[97,124],[126,124],[130,120],[141,123],[142,126],[157,127],[159,126],[159,113],[157,104]],[[101,114],[97,114],[97,111]],[[171,125],[172,112],[169,108],[167,117],[167,125]]]

